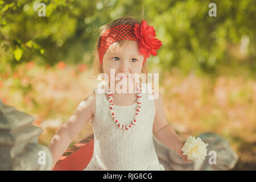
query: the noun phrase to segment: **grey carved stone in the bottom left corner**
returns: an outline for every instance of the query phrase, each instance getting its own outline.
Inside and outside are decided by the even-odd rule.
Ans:
[[[34,120],[0,100],[1,171],[51,170],[51,151],[38,144],[42,129],[32,125]]]

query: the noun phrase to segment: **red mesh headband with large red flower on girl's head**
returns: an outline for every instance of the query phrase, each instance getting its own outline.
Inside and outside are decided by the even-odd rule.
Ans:
[[[109,46],[120,40],[135,40],[139,42],[141,55],[144,55],[144,61],[150,55],[156,56],[156,49],[162,46],[162,42],[155,38],[155,30],[153,26],[147,26],[146,20],[142,20],[141,24],[135,23],[135,26],[128,24],[120,24],[110,28],[101,37],[99,48],[100,62],[103,64],[103,57]],[[143,64],[144,64],[143,61]]]

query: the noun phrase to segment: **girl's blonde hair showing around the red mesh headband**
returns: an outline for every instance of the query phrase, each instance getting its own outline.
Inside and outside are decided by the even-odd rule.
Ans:
[[[134,26],[135,23],[141,24],[141,21],[142,21],[141,19],[136,19],[133,16],[124,16],[122,18],[115,19],[112,22],[100,27],[100,35],[98,36],[97,42],[93,49],[93,56],[94,56],[94,59],[93,59],[94,74],[93,74],[93,76],[97,77],[97,75],[99,75],[100,73],[104,73],[101,63],[100,63],[100,56],[98,53],[98,49],[100,48],[100,43],[101,43],[101,37],[104,34],[104,32],[109,30],[110,28],[118,26],[120,24],[129,24],[130,26]],[[126,42],[127,42],[127,40],[121,40],[121,41],[117,42],[117,45],[119,47],[122,47],[124,44],[126,44]],[[147,59],[144,61],[144,64],[142,66],[142,73],[144,73],[145,75],[147,75],[147,73],[148,73]],[[146,76],[146,82],[147,82],[147,76]]]

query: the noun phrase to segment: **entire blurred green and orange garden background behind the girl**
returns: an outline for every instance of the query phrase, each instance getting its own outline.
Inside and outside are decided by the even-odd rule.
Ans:
[[[209,3],[217,16],[210,17]],[[46,16],[39,16],[46,5]],[[92,78],[98,27],[131,15],[154,26],[167,121],[181,138],[212,131],[256,169],[256,1],[0,0],[0,98],[36,119],[48,146],[99,81]],[[88,123],[70,146],[93,133]]]

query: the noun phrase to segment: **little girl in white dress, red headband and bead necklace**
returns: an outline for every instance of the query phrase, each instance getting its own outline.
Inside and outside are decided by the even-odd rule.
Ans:
[[[154,27],[131,16],[102,27],[94,49],[94,68],[104,73],[106,92],[95,88],[53,137],[49,144],[52,167],[89,121],[94,151],[84,170],[164,170],[155,152],[153,134],[185,162],[190,161],[181,151],[185,142],[166,121],[161,94],[154,90],[158,97],[149,99],[134,76],[147,74],[146,58],[156,56],[156,49],[162,46],[155,36]]]

